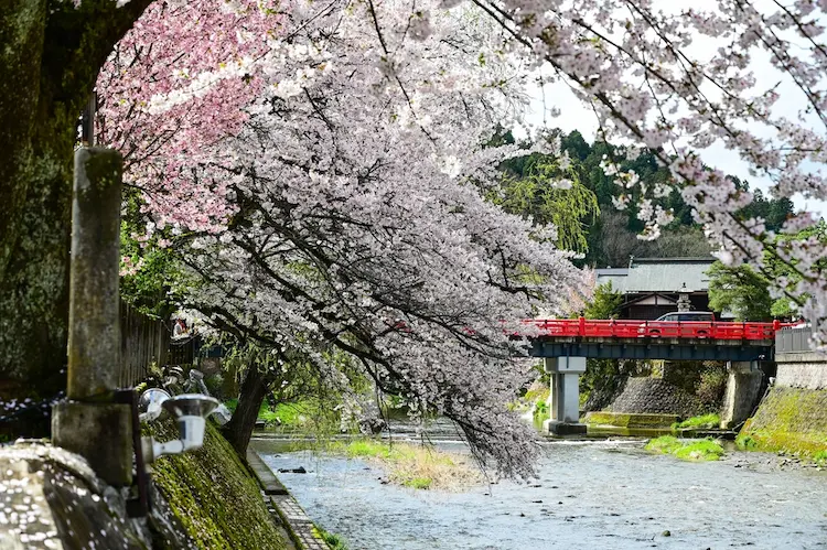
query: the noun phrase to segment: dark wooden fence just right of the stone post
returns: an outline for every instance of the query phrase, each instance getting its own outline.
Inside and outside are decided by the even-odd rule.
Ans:
[[[129,388],[142,381],[152,364],[165,365],[169,347],[170,330],[163,320],[120,302],[119,387]]]

